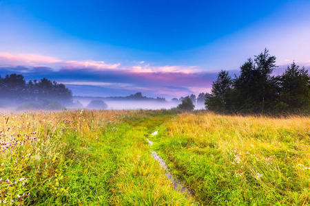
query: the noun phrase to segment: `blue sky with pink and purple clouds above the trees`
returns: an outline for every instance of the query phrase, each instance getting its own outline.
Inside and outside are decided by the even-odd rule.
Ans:
[[[274,73],[293,60],[310,69],[309,10],[309,0],[0,0],[0,75],[74,95],[198,95],[265,48]]]

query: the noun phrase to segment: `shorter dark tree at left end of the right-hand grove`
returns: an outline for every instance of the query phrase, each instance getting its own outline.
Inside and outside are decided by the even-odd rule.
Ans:
[[[232,80],[228,71],[220,71],[217,80],[212,84],[211,95],[205,100],[205,107],[211,111],[227,111],[231,84]]]

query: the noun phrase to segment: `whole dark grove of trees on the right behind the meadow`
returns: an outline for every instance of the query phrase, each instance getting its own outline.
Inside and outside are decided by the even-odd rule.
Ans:
[[[295,62],[280,76],[273,76],[276,56],[269,51],[249,58],[240,75],[220,71],[205,106],[228,113],[310,113],[310,77]]]

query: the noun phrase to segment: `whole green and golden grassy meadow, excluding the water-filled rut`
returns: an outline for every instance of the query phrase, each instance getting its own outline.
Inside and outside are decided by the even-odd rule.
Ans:
[[[0,114],[0,205],[309,205],[309,194],[309,117]]]

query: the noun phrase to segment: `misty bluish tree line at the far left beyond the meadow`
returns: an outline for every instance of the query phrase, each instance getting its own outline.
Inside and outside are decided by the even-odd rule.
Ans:
[[[21,74],[12,73],[4,78],[0,76],[0,98],[14,102],[53,100],[71,104],[72,91],[47,78],[26,82]]]

